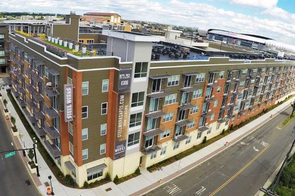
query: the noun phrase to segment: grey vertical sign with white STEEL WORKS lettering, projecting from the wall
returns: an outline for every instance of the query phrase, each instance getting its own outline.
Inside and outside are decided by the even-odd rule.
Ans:
[[[73,121],[73,84],[63,85],[64,122]]]

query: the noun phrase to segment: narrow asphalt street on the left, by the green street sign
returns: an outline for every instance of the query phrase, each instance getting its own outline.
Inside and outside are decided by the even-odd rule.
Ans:
[[[3,114],[0,113],[0,151],[11,150],[12,136],[7,130]],[[18,152],[5,158],[0,154],[0,196],[41,196],[34,186]],[[29,180],[31,185],[26,185]]]

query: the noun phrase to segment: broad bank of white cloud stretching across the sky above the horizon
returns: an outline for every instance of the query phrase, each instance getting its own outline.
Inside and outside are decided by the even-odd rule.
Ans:
[[[273,0],[267,1],[271,4]],[[206,3],[186,3],[181,0],[171,0],[165,3],[156,0],[104,0],[103,3],[93,0],[51,0],[46,3],[44,0],[10,0],[9,2],[2,0],[0,10],[60,14],[68,14],[70,10],[75,10],[80,15],[86,12],[115,12],[124,20],[223,29],[236,33],[262,35],[295,45],[295,24],[292,20],[280,20],[278,17],[267,19],[268,11],[258,18],[225,8],[216,8],[208,4],[209,1],[203,2]],[[274,1],[272,5],[275,5]],[[284,10],[277,11],[278,15],[284,13]]]

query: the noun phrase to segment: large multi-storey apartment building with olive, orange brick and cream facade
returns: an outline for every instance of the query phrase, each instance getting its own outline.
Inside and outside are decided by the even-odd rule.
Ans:
[[[56,36],[66,38],[69,32],[56,26]],[[14,97],[79,186],[106,172],[122,177],[151,166],[294,94],[295,61],[200,60],[193,48],[156,36],[110,30],[97,36],[107,40],[101,56],[57,55],[17,32],[5,48]]]

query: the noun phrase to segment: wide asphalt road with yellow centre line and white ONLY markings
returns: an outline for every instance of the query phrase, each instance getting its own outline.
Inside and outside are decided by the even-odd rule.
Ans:
[[[295,120],[277,126],[291,107],[233,146],[145,196],[254,196],[285,158]]]

